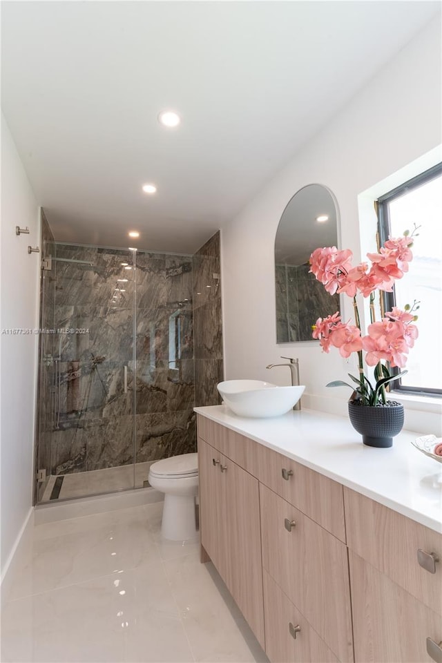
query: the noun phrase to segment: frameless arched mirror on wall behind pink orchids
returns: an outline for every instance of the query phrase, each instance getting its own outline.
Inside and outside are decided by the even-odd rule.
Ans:
[[[276,343],[312,340],[311,325],[339,310],[339,295],[330,296],[309,274],[314,249],[337,246],[332,193],[321,184],[304,186],[289,200],[276,232]]]

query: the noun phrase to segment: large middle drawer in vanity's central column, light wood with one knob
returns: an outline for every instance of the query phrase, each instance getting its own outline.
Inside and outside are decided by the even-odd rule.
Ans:
[[[347,547],[262,484],[260,512],[265,570],[336,657],[351,662]]]

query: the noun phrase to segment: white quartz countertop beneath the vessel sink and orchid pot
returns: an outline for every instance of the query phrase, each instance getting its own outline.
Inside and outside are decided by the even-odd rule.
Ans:
[[[348,419],[314,410],[247,419],[227,405],[195,412],[247,436],[398,513],[442,532],[442,463],[415,449],[403,430],[388,449],[367,447]]]

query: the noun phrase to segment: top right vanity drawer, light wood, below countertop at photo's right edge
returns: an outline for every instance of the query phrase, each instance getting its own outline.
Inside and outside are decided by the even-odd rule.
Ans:
[[[349,488],[344,497],[349,548],[442,615],[442,535]]]

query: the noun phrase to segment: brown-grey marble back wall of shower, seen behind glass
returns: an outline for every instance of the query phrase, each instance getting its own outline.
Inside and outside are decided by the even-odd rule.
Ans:
[[[92,267],[55,267],[54,327],[78,333],[55,339],[61,388],[52,474],[195,450],[191,256],[139,251],[135,272],[121,264],[131,263],[126,251],[68,244],[56,249],[57,258],[87,260]]]

